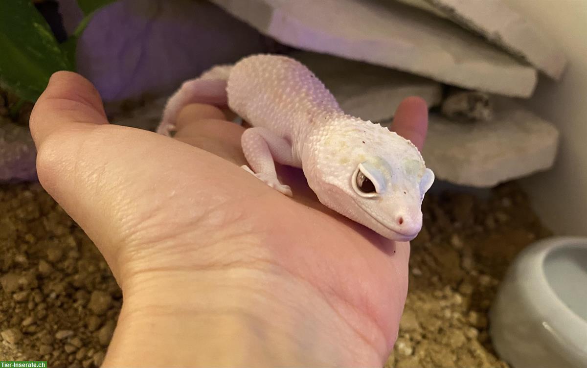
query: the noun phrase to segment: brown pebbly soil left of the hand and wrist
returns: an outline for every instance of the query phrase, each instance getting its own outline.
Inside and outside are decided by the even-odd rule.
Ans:
[[[99,366],[122,293],[96,247],[39,184],[0,185],[0,254],[0,360]]]

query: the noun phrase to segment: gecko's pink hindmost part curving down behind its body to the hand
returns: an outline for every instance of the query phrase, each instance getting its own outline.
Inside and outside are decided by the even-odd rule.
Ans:
[[[185,81],[168,100],[157,133],[170,136],[176,129],[176,120],[181,109],[190,103],[212,104],[227,107],[226,86],[232,65],[219,65],[204,72],[200,77]]]

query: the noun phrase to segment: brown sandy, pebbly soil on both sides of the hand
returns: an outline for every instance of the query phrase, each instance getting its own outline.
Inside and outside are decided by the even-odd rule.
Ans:
[[[427,195],[386,366],[507,367],[492,350],[487,311],[514,256],[548,235],[514,184],[485,199]],[[0,185],[0,254],[0,360],[99,366],[122,293],[92,242],[38,184]]]

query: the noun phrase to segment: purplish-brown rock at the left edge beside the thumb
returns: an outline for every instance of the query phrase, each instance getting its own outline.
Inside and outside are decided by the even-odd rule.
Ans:
[[[30,181],[36,177],[31,131],[0,116],[0,181]]]

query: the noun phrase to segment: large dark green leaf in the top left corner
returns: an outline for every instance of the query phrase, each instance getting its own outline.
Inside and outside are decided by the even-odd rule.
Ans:
[[[73,70],[45,18],[30,0],[0,0],[0,83],[35,101],[49,77]]]

